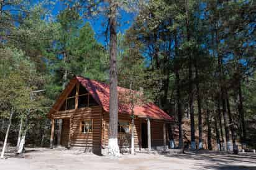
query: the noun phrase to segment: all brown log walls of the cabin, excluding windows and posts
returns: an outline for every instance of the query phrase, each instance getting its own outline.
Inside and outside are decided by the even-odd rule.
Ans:
[[[87,107],[76,110],[66,110],[57,112],[54,119],[63,119],[62,145],[80,146],[93,151],[100,151],[107,148],[109,113],[104,112],[101,106]],[[93,120],[92,133],[80,133],[80,122],[82,120]],[[119,133],[119,147],[130,148],[131,119],[128,114],[119,114],[119,120],[129,121],[130,133]],[[141,123],[145,119],[135,118],[134,123],[134,147],[140,148],[141,143]],[[152,146],[163,146],[163,123],[160,120],[150,120],[151,143]],[[70,130],[70,131],[69,131]],[[69,135],[70,133],[70,135]],[[70,138],[70,140],[69,140]],[[68,141],[70,143],[68,143]]]

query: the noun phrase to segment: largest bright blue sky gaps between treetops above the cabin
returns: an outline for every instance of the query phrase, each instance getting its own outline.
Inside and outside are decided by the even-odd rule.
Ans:
[[[56,1],[55,5],[52,7],[52,15],[57,16],[58,13],[63,9],[65,9],[65,4],[63,4],[62,1]],[[124,34],[124,32],[132,25],[135,14],[127,13],[125,11],[121,11],[120,14],[121,19],[119,19],[119,27],[117,29],[117,32],[121,32],[122,34]],[[106,23],[106,19],[104,18],[104,16],[98,16],[93,19],[84,20],[85,22],[89,22],[92,25],[95,32],[95,38],[98,40],[98,42],[106,45],[106,37],[104,36],[104,31],[106,28],[103,26],[104,23]]]

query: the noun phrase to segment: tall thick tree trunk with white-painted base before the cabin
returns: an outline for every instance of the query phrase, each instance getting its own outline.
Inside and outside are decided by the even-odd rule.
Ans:
[[[109,1],[109,30],[110,30],[110,70],[109,70],[109,155],[119,156],[117,141],[118,126],[118,98],[117,98],[117,4]]]

